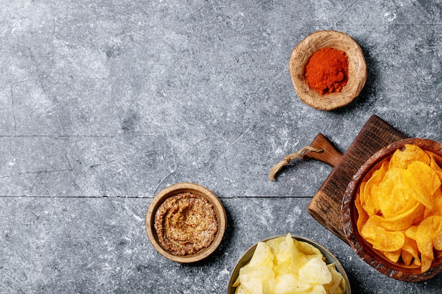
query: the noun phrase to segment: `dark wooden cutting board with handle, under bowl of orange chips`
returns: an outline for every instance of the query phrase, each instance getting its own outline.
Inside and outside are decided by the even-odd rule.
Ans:
[[[306,151],[304,157],[323,161],[333,166],[328,178],[309,203],[307,210],[316,221],[347,243],[341,223],[342,197],[359,167],[378,149],[406,138],[399,130],[378,116],[371,116],[347,149],[341,154],[321,133],[310,146],[323,152]]]

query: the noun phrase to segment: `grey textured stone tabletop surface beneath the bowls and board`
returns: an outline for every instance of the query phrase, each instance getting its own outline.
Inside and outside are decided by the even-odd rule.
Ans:
[[[345,152],[372,114],[442,141],[440,1],[237,2],[0,0],[0,293],[226,293],[242,253],[287,232],[330,248],[354,293],[439,293],[440,277],[383,276],[309,216],[330,166],[267,177],[318,133]],[[289,56],[316,30],[364,51],[366,86],[344,109],[294,92]],[[182,181],[229,221],[190,266],[144,228]]]

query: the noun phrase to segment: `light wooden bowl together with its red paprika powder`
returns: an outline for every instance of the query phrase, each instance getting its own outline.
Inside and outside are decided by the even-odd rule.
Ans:
[[[299,99],[320,110],[350,104],[367,78],[359,44],[334,30],[313,32],[299,42],[290,56],[289,72]]]

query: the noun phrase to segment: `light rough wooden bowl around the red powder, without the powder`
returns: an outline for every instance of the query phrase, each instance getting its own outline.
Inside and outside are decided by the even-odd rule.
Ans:
[[[306,66],[313,53],[332,47],[344,51],[348,58],[348,82],[338,93],[319,94],[305,80]],[[305,104],[320,110],[332,110],[350,104],[361,92],[367,78],[361,47],[349,35],[333,30],[313,32],[294,47],[289,61],[294,90]]]

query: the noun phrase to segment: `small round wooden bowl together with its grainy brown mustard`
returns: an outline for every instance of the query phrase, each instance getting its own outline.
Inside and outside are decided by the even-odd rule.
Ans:
[[[150,242],[161,255],[174,262],[192,263],[215,252],[227,217],[222,203],[208,188],[177,183],[155,195],[145,226]]]

